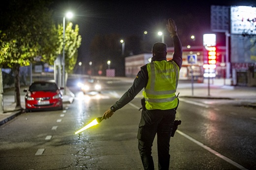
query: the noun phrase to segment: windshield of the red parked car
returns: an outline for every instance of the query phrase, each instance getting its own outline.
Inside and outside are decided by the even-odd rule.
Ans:
[[[41,82],[41,83],[33,83],[30,86],[30,91],[56,91],[58,90],[58,86],[55,83]]]

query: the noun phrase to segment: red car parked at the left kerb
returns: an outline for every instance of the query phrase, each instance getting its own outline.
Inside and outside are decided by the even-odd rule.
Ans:
[[[63,94],[54,82],[38,81],[30,85],[25,96],[26,112],[35,110],[63,110]]]

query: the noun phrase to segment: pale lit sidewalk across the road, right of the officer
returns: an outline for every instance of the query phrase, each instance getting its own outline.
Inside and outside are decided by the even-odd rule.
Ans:
[[[256,87],[231,85],[230,79],[205,79],[203,83],[180,80],[176,94],[182,98],[226,99],[256,108]]]

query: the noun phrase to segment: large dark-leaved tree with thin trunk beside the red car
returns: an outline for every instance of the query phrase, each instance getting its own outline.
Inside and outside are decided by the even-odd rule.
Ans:
[[[57,36],[48,0],[6,3],[0,9],[0,67],[14,68],[16,107],[21,108],[19,68],[29,65],[33,57],[53,54]]]

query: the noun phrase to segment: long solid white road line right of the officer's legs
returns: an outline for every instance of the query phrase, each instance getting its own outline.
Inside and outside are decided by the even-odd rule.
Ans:
[[[237,164],[236,162],[232,161],[231,159],[225,157],[224,155],[220,154],[219,152],[217,152],[216,150],[213,150],[212,148],[204,145],[201,142],[196,141],[195,139],[193,139],[192,137],[186,135],[185,133],[177,130],[176,132],[178,132],[180,135],[184,136],[185,138],[191,140],[192,142],[198,144],[199,146],[203,147],[204,149],[208,150],[209,152],[215,154],[216,156],[220,157],[221,159],[223,159],[224,161],[228,162],[229,164],[232,164],[233,166],[239,168],[240,170],[247,170],[246,168],[244,168],[243,166]]]

